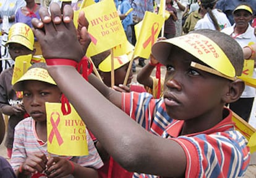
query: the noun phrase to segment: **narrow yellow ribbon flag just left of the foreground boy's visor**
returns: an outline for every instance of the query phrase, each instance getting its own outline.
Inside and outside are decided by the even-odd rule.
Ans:
[[[148,59],[151,47],[156,42],[161,26],[163,26],[164,18],[153,12],[146,11],[143,18],[141,33],[135,44],[134,55],[138,55]]]

